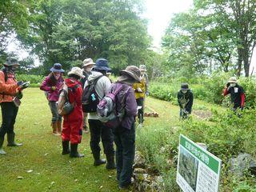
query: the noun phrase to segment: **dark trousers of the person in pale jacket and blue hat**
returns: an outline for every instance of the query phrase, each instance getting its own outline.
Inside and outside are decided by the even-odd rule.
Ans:
[[[90,127],[90,149],[93,154],[101,150],[99,142],[102,138],[104,154],[114,155],[114,135],[109,127],[106,127],[99,120],[89,119]]]

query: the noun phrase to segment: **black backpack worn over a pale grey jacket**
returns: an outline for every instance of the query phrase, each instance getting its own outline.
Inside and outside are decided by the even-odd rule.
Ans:
[[[100,75],[93,81],[88,81],[88,85],[86,85],[82,92],[82,111],[85,113],[94,113],[97,111],[99,98],[98,94],[96,93],[95,86],[102,76],[103,75]]]

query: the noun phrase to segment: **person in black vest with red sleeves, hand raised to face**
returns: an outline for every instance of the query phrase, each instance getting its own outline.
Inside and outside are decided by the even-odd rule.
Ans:
[[[231,102],[233,104],[233,110],[237,110],[238,108],[240,110],[243,110],[246,94],[244,93],[242,86],[238,85],[237,78],[230,78],[225,86],[225,89],[223,90],[223,94],[224,96],[230,94]]]

